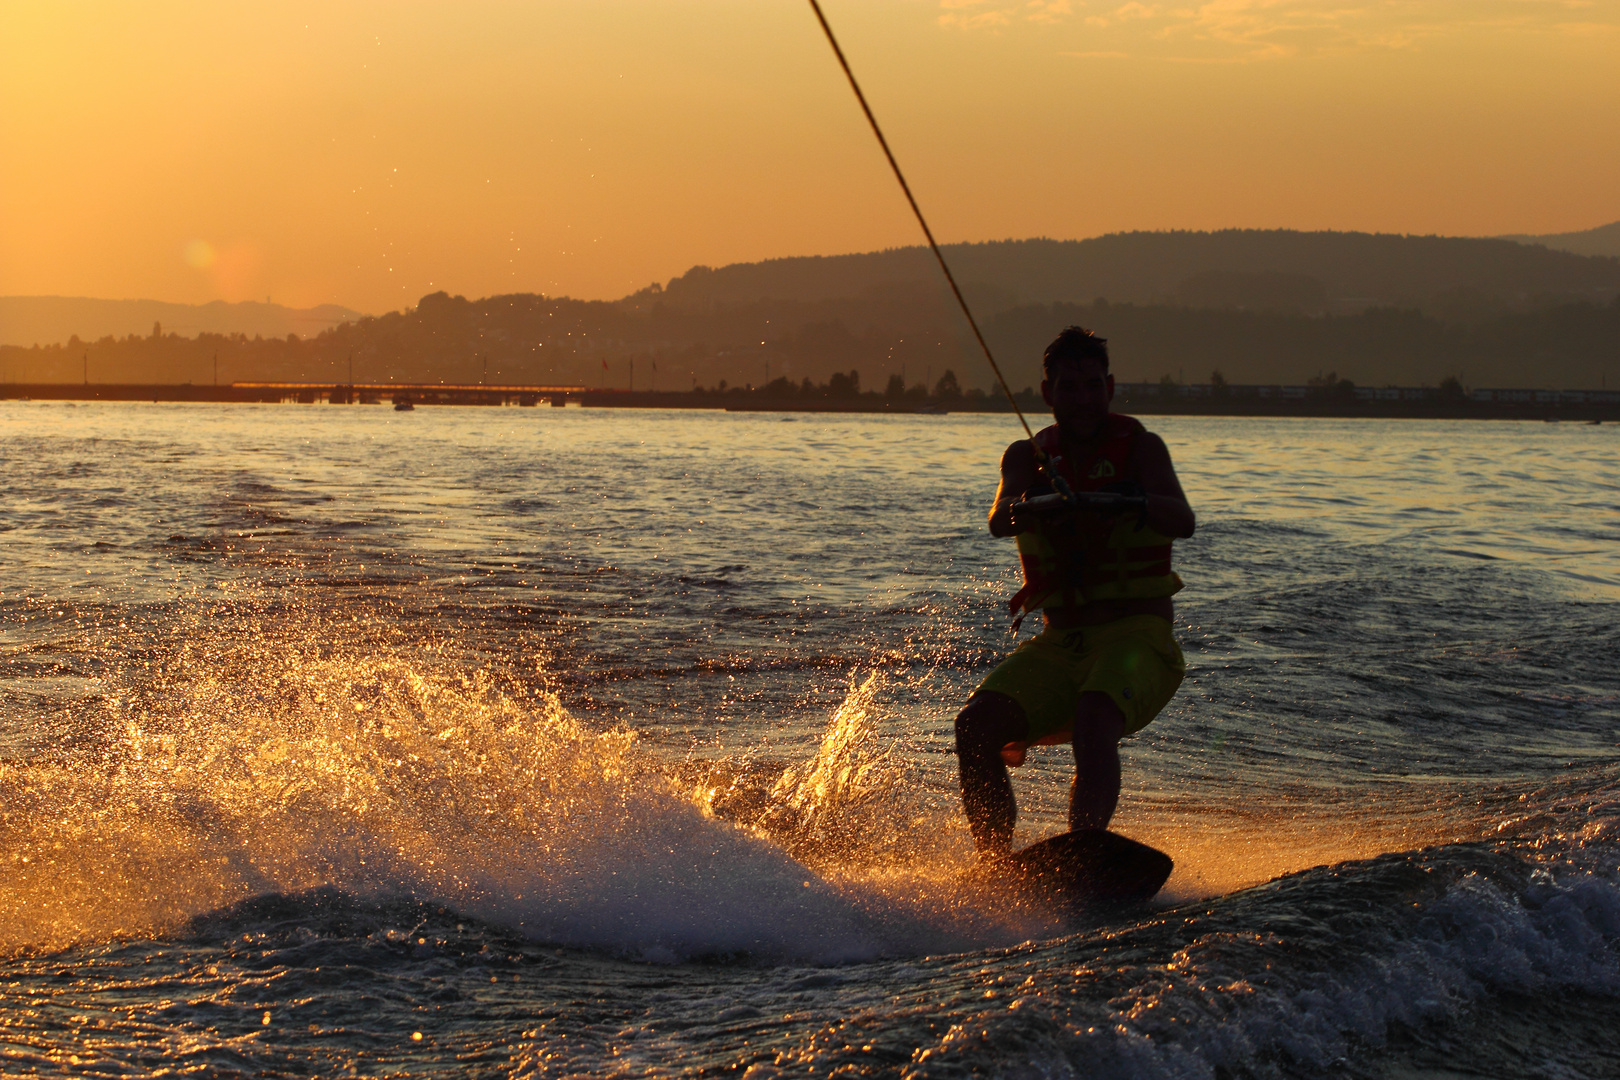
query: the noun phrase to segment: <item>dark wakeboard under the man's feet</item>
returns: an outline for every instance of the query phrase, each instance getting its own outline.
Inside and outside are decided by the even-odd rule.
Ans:
[[[1076,829],[996,863],[1017,892],[1063,910],[1145,904],[1174,863],[1163,852],[1106,829]]]

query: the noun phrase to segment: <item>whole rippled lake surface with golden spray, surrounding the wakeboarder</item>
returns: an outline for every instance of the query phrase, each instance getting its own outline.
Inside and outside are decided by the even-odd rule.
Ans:
[[[1064,926],[1006,418],[0,403],[0,1070],[1620,1072],[1620,431],[1150,426],[1176,873]]]

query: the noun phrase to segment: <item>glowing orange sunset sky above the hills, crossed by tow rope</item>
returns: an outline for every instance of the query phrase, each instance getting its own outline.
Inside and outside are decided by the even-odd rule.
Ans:
[[[825,0],[941,240],[1620,219],[1610,0]],[[0,0],[0,295],[620,296],[917,243],[804,0]]]

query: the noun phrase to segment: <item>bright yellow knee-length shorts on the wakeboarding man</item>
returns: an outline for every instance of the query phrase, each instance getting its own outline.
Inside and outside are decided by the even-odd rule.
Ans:
[[[1187,670],[1170,622],[1131,615],[1097,627],[1042,630],[978,683],[1024,706],[1025,743],[1074,727],[1081,695],[1100,690],[1124,712],[1126,735],[1147,727],[1170,704]]]

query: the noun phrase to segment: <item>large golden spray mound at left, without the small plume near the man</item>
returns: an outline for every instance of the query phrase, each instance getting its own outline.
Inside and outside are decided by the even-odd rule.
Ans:
[[[10,950],[321,886],[671,959],[880,947],[859,904],[706,814],[633,733],[484,674],[193,649],[91,719],[94,750],[0,766]]]

